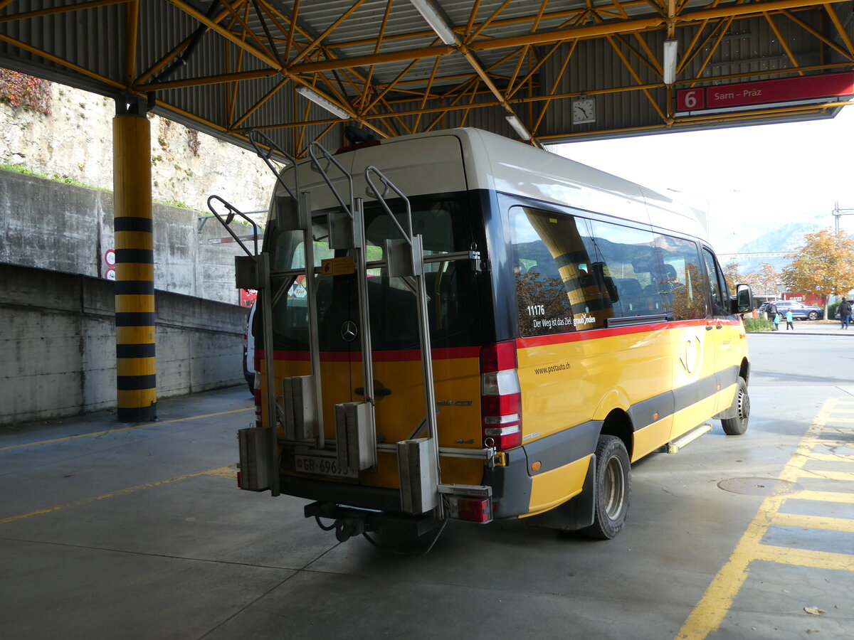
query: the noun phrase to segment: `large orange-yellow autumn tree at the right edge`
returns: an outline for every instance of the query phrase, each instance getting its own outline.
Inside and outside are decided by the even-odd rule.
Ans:
[[[847,294],[854,288],[854,240],[844,233],[828,229],[808,233],[788,258],[792,262],[783,268],[782,282],[793,291],[828,300],[831,294]],[[828,319],[827,301],[824,318]]]

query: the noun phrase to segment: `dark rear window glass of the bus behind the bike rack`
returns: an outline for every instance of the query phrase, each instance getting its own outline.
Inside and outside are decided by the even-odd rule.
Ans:
[[[416,196],[411,199],[412,233],[421,235],[424,255],[466,251],[473,234],[465,194]],[[393,212],[402,212],[400,202],[389,201]],[[323,259],[340,258],[352,253],[329,247],[328,211],[315,212],[313,224],[314,265]],[[366,203],[366,259],[384,259],[385,241],[401,238],[394,222],[375,202]],[[399,214],[398,221],[407,224]],[[273,326],[277,348],[307,350],[307,298],[303,276],[278,275],[278,271],[305,265],[305,247],[300,231],[272,234],[268,243],[272,253],[274,286]],[[464,346],[477,335],[474,304],[474,277],[467,261],[439,260],[424,268],[427,288],[430,335],[436,346]],[[371,347],[374,351],[418,348],[417,303],[412,280],[389,277],[388,269],[368,270],[368,300],[371,320]],[[340,329],[347,320],[359,323],[358,291],[353,275],[314,276],[318,291],[318,323],[322,350],[351,350],[358,340],[344,342]],[[361,328],[360,328],[361,329]]]

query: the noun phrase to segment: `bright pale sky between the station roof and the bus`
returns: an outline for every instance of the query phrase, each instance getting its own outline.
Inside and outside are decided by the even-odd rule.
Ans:
[[[585,165],[710,212],[711,241],[733,253],[772,226],[854,210],[854,107],[834,119],[667,133],[553,148]],[[840,218],[854,232],[854,216]]]

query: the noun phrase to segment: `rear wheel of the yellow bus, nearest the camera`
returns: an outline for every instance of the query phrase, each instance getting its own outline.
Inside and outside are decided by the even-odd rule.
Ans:
[[[582,529],[588,538],[610,540],[617,537],[629,513],[632,472],[629,452],[623,440],[600,435],[596,445],[596,504],[594,521]]]

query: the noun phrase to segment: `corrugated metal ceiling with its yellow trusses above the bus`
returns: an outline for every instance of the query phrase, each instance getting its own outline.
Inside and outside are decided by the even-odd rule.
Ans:
[[[243,145],[290,154],[342,141],[478,126],[534,144],[828,117],[787,101],[680,113],[676,90],[854,70],[851,0],[0,0],[0,66],[129,101]],[[676,80],[663,81],[665,39]],[[446,38],[447,39],[447,38]],[[339,119],[296,93],[312,87]],[[594,119],[574,118],[579,97]]]

